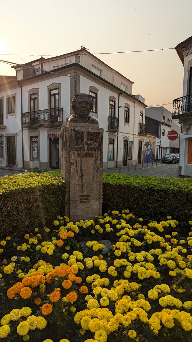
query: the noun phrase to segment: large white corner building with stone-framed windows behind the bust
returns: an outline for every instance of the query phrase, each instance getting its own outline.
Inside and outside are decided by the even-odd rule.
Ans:
[[[17,80],[0,83],[1,165],[61,168],[60,133],[78,92],[91,95],[104,128],[104,168],[141,162],[146,105],[132,81],[85,48],[13,68]]]

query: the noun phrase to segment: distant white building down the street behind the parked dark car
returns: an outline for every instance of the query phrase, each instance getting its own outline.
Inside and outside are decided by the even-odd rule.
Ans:
[[[164,107],[146,108],[146,124],[148,134],[154,134],[156,138],[154,160],[162,159],[168,153],[179,153],[179,138],[172,141],[167,137],[169,131],[176,131],[178,136],[181,131],[177,121],[172,120],[172,113],[169,110]]]

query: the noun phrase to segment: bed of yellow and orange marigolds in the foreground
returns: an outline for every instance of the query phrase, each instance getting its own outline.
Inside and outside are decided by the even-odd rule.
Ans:
[[[192,222],[128,210],[0,240],[3,341],[190,341]],[[186,232],[186,229],[183,231]],[[112,248],[102,254],[100,240]],[[80,242],[87,241],[85,254]]]

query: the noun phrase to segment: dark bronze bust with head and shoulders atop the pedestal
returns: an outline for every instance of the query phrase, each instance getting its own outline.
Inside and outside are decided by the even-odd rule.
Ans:
[[[77,93],[72,100],[71,107],[74,114],[70,116],[67,122],[79,123],[98,123],[89,113],[93,108],[93,101],[89,94]]]

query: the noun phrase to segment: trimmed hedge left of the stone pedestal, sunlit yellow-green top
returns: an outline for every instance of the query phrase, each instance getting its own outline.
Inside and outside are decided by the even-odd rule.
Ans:
[[[41,173],[5,176],[0,179],[0,236],[19,236],[52,223],[65,210],[65,181]]]

